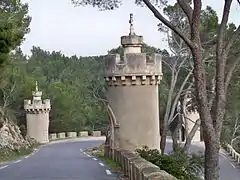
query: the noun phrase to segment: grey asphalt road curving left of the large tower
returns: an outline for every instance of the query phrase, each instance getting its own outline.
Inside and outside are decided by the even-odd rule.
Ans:
[[[41,147],[18,161],[0,166],[0,180],[116,180],[100,160],[81,151],[103,141],[71,141]]]

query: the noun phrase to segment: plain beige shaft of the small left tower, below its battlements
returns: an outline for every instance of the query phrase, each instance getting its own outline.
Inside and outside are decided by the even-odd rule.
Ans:
[[[34,138],[40,144],[48,143],[49,112],[27,114],[26,118],[28,136]]]

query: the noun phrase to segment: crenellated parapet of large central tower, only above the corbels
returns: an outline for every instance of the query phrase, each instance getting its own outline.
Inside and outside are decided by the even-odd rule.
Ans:
[[[105,59],[105,75],[112,76],[162,76],[162,56],[146,53],[125,54],[123,60],[119,54],[107,55]]]

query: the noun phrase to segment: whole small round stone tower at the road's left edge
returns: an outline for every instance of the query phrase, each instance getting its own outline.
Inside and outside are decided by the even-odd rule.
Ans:
[[[39,143],[47,143],[49,128],[49,112],[51,104],[49,99],[42,100],[42,92],[36,89],[32,92],[32,100],[24,100],[24,109],[26,111],[27,134],[36,139]]]

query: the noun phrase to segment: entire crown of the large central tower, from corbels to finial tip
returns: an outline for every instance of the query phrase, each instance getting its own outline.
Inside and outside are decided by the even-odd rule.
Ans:
[[[134,33],[130,14],[130,33],[121,37],[124,57],[119,54],[105,58],[105,79],[108,86],[157,85],[162,78],[162,56],[141,53],[143,37]]]

